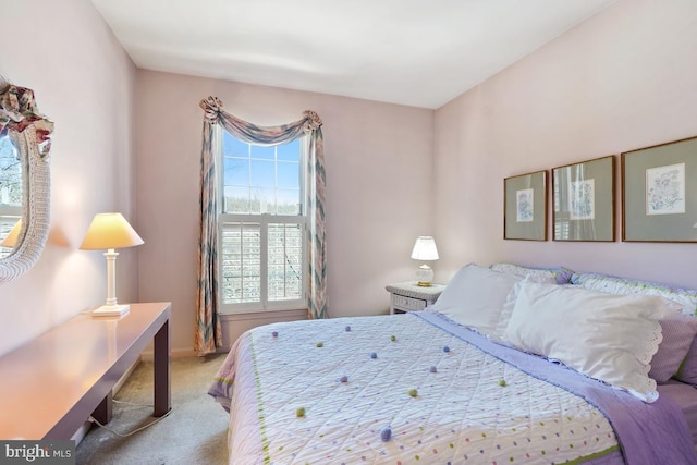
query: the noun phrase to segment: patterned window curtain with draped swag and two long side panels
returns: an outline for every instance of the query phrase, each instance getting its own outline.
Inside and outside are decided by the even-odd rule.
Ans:
[[[241,140],[257,145],[279,145],[308,135],[305,195],[307,205],[307,308],[309,318],[327,318],[327,259],[325,233],[325,148],[322,122],[314,111],[301,120],[280,126],[257,126],[225,112],[217,97],[200,101],[204,134],[200,166],[200,233],[198,238],[198,303],[195,351],[216,352],[222,345],[218,318],[218,172],[217,157],[222,126]],[[220,126],[218,126],[220,125]]]

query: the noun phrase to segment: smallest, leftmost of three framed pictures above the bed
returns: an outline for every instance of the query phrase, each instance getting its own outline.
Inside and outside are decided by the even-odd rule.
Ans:
[[[547,241],[547,171],[503,180],[503,238]]]

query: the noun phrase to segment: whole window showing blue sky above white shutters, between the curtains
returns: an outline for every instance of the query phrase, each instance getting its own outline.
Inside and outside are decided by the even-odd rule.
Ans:
[[[221,313],[306,307],[302,142],[266,147],[223,131]]]

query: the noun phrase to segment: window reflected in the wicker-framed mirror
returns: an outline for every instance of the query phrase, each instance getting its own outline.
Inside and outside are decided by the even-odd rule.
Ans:
[[[0,241],[22,218],[22,163],[10,137],[0,137]],[[0,258],[12,252],[0,247]]]

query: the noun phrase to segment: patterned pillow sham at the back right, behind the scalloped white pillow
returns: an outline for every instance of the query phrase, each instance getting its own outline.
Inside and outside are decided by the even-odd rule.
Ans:
[[[601,273],[573,273],[573,284],[610,294],[660,295],[683,306],[685,315],[697,315],[697,291],[650,281],[617,278]]]

